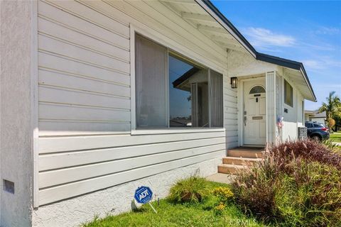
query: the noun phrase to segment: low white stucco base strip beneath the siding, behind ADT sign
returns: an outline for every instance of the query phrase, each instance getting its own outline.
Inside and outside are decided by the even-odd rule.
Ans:
[[[156,199],[164,198],[178,179],[195,174],[202,177],[215,174],[217,165],[221,162],[221,158],[207,160],[55,204],[40,206],[33,211],[33,226],[79,226],[80,223],[91,221],[95,215],[103,218],[108,214],[117,215],[131,211],[131,201],[137,187],[142,185],[151,187]]]

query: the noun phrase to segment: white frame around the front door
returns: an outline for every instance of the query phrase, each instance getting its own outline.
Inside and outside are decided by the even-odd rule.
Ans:
[[[259,145],[245,145],[244,144],[244,83],[250,82],[250,81],[256,81],[259,79],[264,79],[266,82],[266,76],[261,75],[259,77],[251,77],[251,78],[245,78],[245,79],[238,79],[238,91],[237,91],[237,121],[238,121],[238,145],[239,146],[250,146],[250,147],[259,147]],[[256,85],[256,84],[255,84]],[[265,84],[265,92],[266,91],[266,84]],[[266,99],[266,97],[265,97]],[[266,111],[266,109],[265,109]],[[265,114],[265,117],[267,117],[267,114]],[[265,131],[267,133],[267,127],[265,126]]]

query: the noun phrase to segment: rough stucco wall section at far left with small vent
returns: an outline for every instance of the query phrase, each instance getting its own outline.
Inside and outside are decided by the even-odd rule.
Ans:
[[[31,226],[31,13],[33,1],[0,1],[0,226]],[[11,182],[7,189],[3,182]],[[14,192],[13,192],[14,191]]]

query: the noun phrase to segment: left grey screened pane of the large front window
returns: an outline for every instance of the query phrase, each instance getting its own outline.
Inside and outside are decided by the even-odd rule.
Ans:
[[[166,128],[167,49],[136,35],[136,126]]]

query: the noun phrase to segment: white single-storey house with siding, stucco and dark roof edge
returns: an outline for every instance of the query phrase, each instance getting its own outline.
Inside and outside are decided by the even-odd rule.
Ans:
[[[301,62],[201,0],[1,1],[0,67],[1,226],[119,214],[141,185],[164,197],[227,148],[297,138],[316,101]]]

